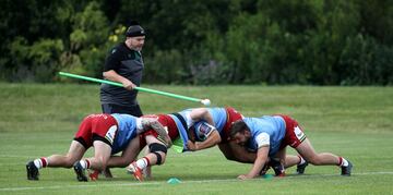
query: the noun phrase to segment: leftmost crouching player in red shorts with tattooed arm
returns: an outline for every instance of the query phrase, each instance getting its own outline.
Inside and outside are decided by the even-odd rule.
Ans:
[[[83,119],[68,154],[52,155],[27,162],[27,180],[38,180],[41,168],[73,167],[78,181],[87,181],[86,169],[104,170],[112,154],[124,150],[131,139],[151,129],[163,137],[163,142],[170,145],[165,129],[154,119],[117,113],[87,115]],[[92,146],[95,148],[94,157],[82,159]]]

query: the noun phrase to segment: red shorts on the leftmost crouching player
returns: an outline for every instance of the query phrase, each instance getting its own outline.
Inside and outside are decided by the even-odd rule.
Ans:
[[[117,130],[117,121],[110,114],[90,114],[83,119],[74,141],[81,143],[86,149],[93,146],[94,141],[102,141],[111,146]]]

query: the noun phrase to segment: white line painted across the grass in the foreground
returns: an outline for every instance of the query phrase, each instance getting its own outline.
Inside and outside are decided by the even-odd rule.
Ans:
[[[393,171],[385,172],[360,172],[353,173],[353,175],[376,175],[376,174],[393,174]],[[338,174],[310,174],[310,175],[287,175],[287,178],[317,178],[317,176],[338,176]],[[213,180],[188,180],[181,181],[181,183],[223,183],[223,182],[238,182],[237,179],[213,179]],[[39,183],[39,181],[32,181]],[[93,183],[93,182],[91,182]],[[15,191],[34,191],[34,190],[57,190],[57,188],[86,188],[86,187],[112,187],[112,186],[148,186],[148,185],[160,185],[165,182],[139,182],[139,183],[99,183],[99,184],[82,184],[82,185],[55,185],[55,186],[37,186],[37,187],[3,187],[0,192],[15,192]]]

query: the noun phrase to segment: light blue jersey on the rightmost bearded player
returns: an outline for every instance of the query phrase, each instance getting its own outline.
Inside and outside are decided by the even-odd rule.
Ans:
[[[286,132],[285,121],[282,117],[245,118],[243,121],[251,131],[251,138],[247,144],[249,149],[257,151],[257,136],[266,133],[270,136],[269,156],[274,156],[279,150],[279,145]]]

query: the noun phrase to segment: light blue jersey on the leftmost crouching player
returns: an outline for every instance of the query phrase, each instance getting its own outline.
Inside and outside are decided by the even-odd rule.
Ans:
[[[136,127],[136,119],[130,114],[120,114],[114,113],[111,114],[117,123],[118,123],[118,131],[115,136],[115,141],[112,144],[112,151],[111,154],[117,154],[126,149],[130,141],[138,135],[138,127]]]

